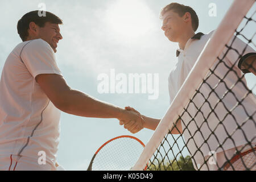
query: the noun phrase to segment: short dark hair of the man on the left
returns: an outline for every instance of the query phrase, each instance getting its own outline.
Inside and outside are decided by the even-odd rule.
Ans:
[[[38,10],[36,11],[30,11],[27,14],[24,14],[22,18],[18,21],[17,24],[17,30],[20,38],[22,41],[26,41],[28,37],[28,28],[30,22],[35,22],[39,27],[44,27],[46,22],[50,23],[56,23],[56,24],[62,24],[62,20],[56,16],[55,14],[52,14],[48,11],[46,12],[46,16],[39,16],[38,15]]]

